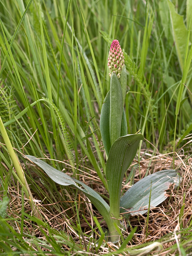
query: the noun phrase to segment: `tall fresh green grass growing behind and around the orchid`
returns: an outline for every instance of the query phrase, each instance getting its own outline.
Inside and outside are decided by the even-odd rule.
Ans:
[[[49,226],[44,217],[37,223],[45,237],[42,240],[41,235],[35,236],[37,228],[32,222],[35,220],[29,208],[25,213],[24,201],[20,199],[22,209],[17,212],[16,202],[11,203],[6,221],[0,222],[0,249],[5,255],[35,255],[35,250],[38,255],[45,255],[45,250],[51,250],[53,255],[61,255],[64,251],[66,255],[85,255],[80,251],[85,247],[88,250],[89,246],[92,253],[101,253],[94,243],[107,247],[102,233],[100,238],[98,236],[99,227],[93,228],[91,222],[88,222],[90,234],[94,235],[90,238],[83,235],[85,231],[80,227],[79,218],[83,218],[81,212],[85,206],[78,204],[79,192],[69,187],[66,190],[59,187],[59,190],[41,170],[25,164],[21,156],[23,153],[53,159],[47,163],[58,170],[65,168],[77,179],[82,178],[81,171],[92,177],[89,169],[105,173],[99,118],[110,86],[107,67],[110,40],[119,40],[124,49],[128,71],[125,104],[128,133],[141,129],[146,139],[142,148],[150,148],[153,155],[179,152],[187,142],[183,139],[192,130],[189,92],[192,91],[192,35],[187,30],[190,18],[186,13],[189,1],[173,1],[178,4],[178,13],[187,21],[186,31],[182,24],[181,28],[177,27],[185,33],[183,41],[176,40],[176,23],[171,23],[176,14],[170,16],[168,4],[164,6],[167,1],[161,1],[162,6],[159,2],[148,0],[145,5],[141,0],[114,0],[113,4],[105,0],[0,1],[0,115],[17,156],[24,163],[34,198],[45,200],[45,204],[61,201],[54,205],[54,211],[68,219],[68,225],[74,229],[73,235],[68,237],[66,230]],[[175,45],[174,40],[178,42]],[[92,117],[87,132],[96,161],[86,146],[86,127]],[[4,143],[2,139],[0,142]],[[139,150],[142,148],[140,146]],[[191,153],[188,144],[184,146],[184,153],[186,156]],[[0,160],[0,196],[7,194],[4,188],[7,191],[8,186],[13,189],[11,193],[22,198],[17,178],[6,179],[12,162],[3,144]],[[135,170],[132,173],[129,179],[134,180]],[[100,186],[98,180],[94,182],[94,186]],[[106,191],[103,188],[99,191],[107,199]],[[10,197],[10,202],[13,199]],[[63,209],[71,207],[63,213]],[[76,215],[75,207],[80,216]],[[11,215],[13,208],[15,212]],[[51,206],[48,210],[52,211]],[[70,219],[73,215],[75,223]],[[181,245],[182,255],[190,243],[190,227],[185,226],[186,231],[182,231],[189,241]],[[79,236],[78,241],[74,238],[75,233]],[[71,248],[68,252],[61,241]],[[182,239],[179,243],[182,244]]]

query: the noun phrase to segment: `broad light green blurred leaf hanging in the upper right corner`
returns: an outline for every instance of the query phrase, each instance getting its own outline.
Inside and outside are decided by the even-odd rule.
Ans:
[[[185,27],[183,16],[176,13],[175,6],[174,4],[171,3],[171,1],[167,0],[167,2],[168,2],[170,17],[171,17],[172,35],[175,41],[175,47],[176,47],[181,71],[183,71],[185,47],[186,47],[188,31]]]

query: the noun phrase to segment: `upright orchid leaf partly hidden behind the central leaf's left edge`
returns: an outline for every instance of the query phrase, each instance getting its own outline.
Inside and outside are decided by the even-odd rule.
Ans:
[[[109,113],[110,113],[110,91],[107,93],[100,115],[100,131],[103,140],[103,145],[107,156],[109,156],[109,150],[111,148],[110,133],[109,133]]]

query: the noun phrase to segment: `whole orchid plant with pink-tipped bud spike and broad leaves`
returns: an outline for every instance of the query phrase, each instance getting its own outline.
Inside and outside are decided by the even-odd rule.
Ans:
[[[103,216],[109,228],[110,239],[116,242],[120,238],[119,230],[123,229],[120,212],[126,212],[127,218],[130,215],[146,213],[149,206],[157,206],[167,198],[165,191],[171,183],[178,184],[179,179],[175,170],[159,171],[138,181],[120,197],[124,174],[136,156],[138,145],[144,137],[141,133],[127,134],[124,111],[127,71],[118,40],[114,40],[111,44],[108,66],[110,90],[104,99],[100,115],[100,132],[107,155],[106,171],[104,174],[100,169],[96,171],[109,192],[109,204],[83,182],[56,170],[36,157],[26,157],[41,167],[56,183],[64,186],[73,185],[82,191]],[[94,158],[88,137],[86,143],[89,155]]]

